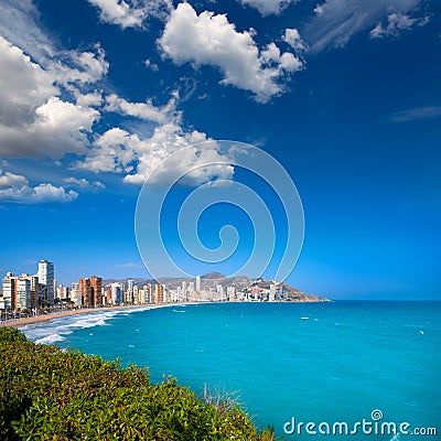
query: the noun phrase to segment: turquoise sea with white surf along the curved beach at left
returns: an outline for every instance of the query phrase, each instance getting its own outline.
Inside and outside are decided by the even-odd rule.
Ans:
[[[148,366],[154,381],[172,375],[196,395],[204,385],[237,392],[258,426],[286,440],[392,439],[383,422],[405,423],[408,433],[437,429],[396,439],[441,439],[441,302],[171,305],[21,330],[39,343]],[[333,437],[335,422],[356,432]]]

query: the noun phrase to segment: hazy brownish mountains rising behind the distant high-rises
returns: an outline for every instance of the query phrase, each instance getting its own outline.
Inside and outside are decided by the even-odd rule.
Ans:
[[[165,284],[169,289],[176,289],[178,287],[182,287],[182,282],[186,282],[187,287],[191,282],[195,283],[195,278],[172,278],[172,277],[162,277],[159,278],[158,281],[153,279],[142,279],[142,278],[126,278],[126,279],[106,279],[103,281],[104,286],[119,282],[123,284],[128,284],[128,280],[133,280],[133,284],[142,288],[148,283],[161,283]],[[222,284],[224,288],[235,287],[239,291],[251,291],[252,287],[259,287],[260,289],[270,289],[270,286],[276,283],[272,280],[265,279],[251,279],[248,276],[235,276],[235,277],[226,277],[220,272],[208,272],[204,276],[201,276],[201,290],[214,288],[216,289],[217,284]],[[281,282],[278,283],[284,295],[287,295],[291,301],[294,302],[327,302],[330,299],[324,297],[319,297],[314,294],[306,294],[305,292],[292,288],[290,284]]]

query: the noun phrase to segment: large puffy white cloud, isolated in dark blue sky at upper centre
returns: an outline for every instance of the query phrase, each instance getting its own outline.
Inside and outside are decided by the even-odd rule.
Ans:
[[[268,47],[260,53],[251,32],[237,32],[226,15],[208,11],[197,15],[189,3],[178,4],[158,43],[176,64],[217,66],[222,84],[249,90],[260,103],[282,93],[281,78],[294,66],[290,55],[268,58]]]

